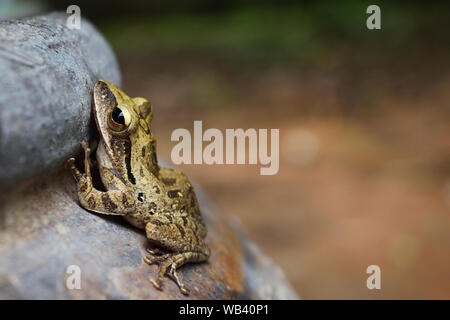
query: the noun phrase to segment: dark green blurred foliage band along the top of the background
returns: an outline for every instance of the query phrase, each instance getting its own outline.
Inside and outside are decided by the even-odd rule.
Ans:
[[[50,1],[62,10],[72,2]],[[444,2],[377,1],[382,8],[382,30],[377,31],[366,28],[366,8],[373,1],[76,4],[119,54],[195,54],[243,66],[332,67],[343,57],[364,64],[427,50],[442,57],[450,53],[450,6]]]

